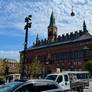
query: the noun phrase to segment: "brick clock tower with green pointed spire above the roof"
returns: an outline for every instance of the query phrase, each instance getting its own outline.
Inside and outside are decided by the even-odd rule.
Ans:
[[[53,11],[50,17],[50,24],[48,26],[48,40],[49,42],[54,42],[57,38],[57,27],[55,25],[55,17]]]

